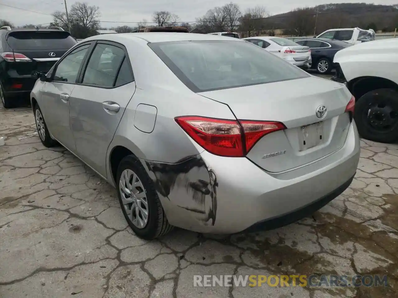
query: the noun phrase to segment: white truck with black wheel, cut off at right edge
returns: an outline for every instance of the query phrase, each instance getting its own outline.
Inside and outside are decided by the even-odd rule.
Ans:
[[[381,143],[398,141],[398,39],[349,46],[334,56],[336,75],[355,97],[359,134]]]

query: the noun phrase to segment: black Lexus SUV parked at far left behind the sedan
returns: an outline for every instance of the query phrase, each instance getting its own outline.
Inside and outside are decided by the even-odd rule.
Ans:
[[[16,106],[35,85],[36,72],[48,72],[77,43],[61,28],[0,28],[0,100],[5,108]]]

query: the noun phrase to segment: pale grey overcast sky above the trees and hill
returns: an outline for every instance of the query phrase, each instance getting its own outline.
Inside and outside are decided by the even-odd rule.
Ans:
[[[142,19],[146,19],[148,22],[152,21],[152,14],[156,10],[167,10],[171,13],[177,14],[180,17],[180,21],[195,21],[196,17],[201,17],[207,10],[215,7],[222,6],[228,3],[228,0],[88,0],[81,2],[87,2],[89,5],[96,5],[100,7],[101,21],[117,21],[117,22],[139,22]],[[319,0],[278,0],[261,2],[256,0],[235,0],[240,6],[242,11],[247,8],[254,7],[256,5],[263,5],[267,11],[274,15],[283,12],[288,12],[298,6],[316,6],[321,4]],[[361,1],[339,1],[332,0],[332,3],[343,3],[343,2],[361,2]],[[387,4],[391,5],[396,3],[397,0],[374,0],[374,4]],[[67,0],[68,9],[74,3],[71,0]],[[298,4],[300,3],[300,4]],[[328,2],[325,2],[328,3]],[[4,5],[0,5],[0,19],[6,19],[11,21],[14,25],[25,25],[25,24],[44,24],[52,21],[51,14],[56,10],[64,11],[63,0],[0,0],[0,4],[7,4],[25,10],[31,10],[40,12],[41,14],[34,12],[27,12],[16,8],[10,8]],[[101,23],[101,27],[116,27],[119,25],[134,26],[134,24],[128,23]]]

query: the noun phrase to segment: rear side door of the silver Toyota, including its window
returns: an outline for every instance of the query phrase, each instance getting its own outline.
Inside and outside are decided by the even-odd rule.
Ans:
[[[106,153],[135,92],[123,45],[99,41],[70,97],[70,125],[78,156],[106,177]]]

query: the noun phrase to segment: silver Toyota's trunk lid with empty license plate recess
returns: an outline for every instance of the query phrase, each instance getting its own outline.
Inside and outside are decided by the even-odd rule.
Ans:
[[[247,158],[269,172],[304,166],[340,149],[350,118],[349,91],[333,81],[308,77],[199,93],[228,104],[240,120],[279,121],[286,130],[262,137]],[[318,107],[326,107],[318,118]]]

